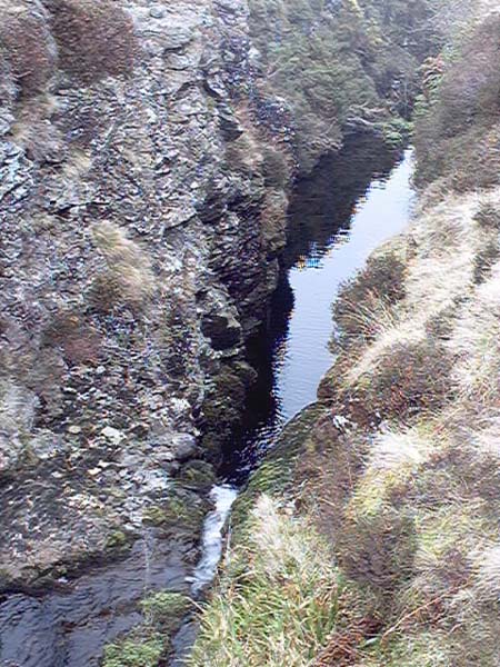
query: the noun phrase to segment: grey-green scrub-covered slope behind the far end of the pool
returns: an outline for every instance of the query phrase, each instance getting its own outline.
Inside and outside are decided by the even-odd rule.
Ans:
[[[371,128],[390,145],[408,136],[403,118],[418,68],[438,49],[438,7],[430,0],[250,1],[253,40],[268,70],[261,92],[290,104],[304,170],[341,143],[346,128]]]

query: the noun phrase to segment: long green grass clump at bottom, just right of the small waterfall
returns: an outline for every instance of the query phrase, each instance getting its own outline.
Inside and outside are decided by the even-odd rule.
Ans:
[[[224,570],[201,617],[191,667],[309,664],[336,628],[342,594],[313,527],[262,495],[247,539],[229,550]]]

